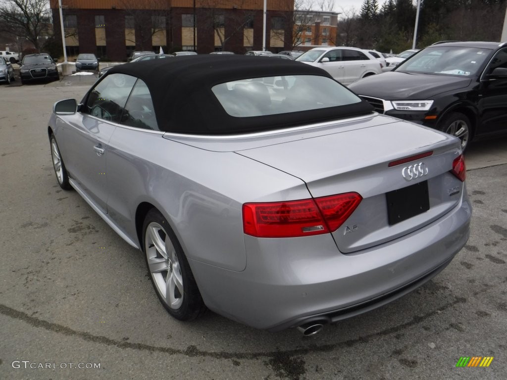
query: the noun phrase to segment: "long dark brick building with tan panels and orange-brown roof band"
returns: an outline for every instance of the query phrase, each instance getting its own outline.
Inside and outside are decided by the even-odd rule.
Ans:
[[[124,61],[135,50],[262,50],[263,0],[61,0],[68,56]],[[294,0],[267,2],[266,50],[292,48]],[[60,33],[58,0],[50,0]],[[194,23],[195,20],[195,23]]]

